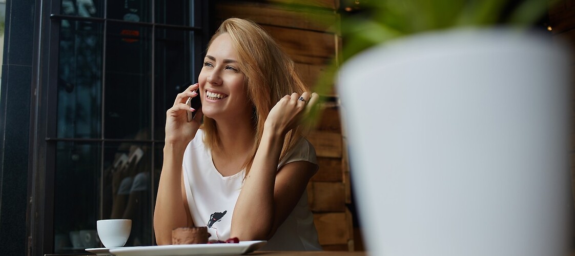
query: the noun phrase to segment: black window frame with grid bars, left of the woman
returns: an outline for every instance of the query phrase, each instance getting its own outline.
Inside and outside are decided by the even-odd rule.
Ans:
[[[113,1],[113,0],[108,0]],[[155,2],[151,0],[152,12]],[[169,1],[169,0],[166,0]],[[33,54],[33,76],[32,92],[30,95],[30,129],[29,129],[29,173],[28,173],[28,209],[26,220],[26,254],[28,255],[45,255],[54,251],[53,237],[53,215],[54,215],[54,176],[55,176],[55,159],[56,143],[62,141],[72,142],[99,142],[108,141],[123,142],[123,140],[105,139],[102,131],[98,139],[74,139],[74,138],[56,138],[56,116],[57,109],[57,78],[58,78],[58,56],[59,56],[59,29],[60,20],[79,20],[91,22],[108,22],[106,18],[78,17],[60,15],[60,0],[36,0],[36,21],[34,28],[36,34],[34,38]],[[213,6],[214,1],[202,0],[196,1],[196,14],[200,16],[202,26],[178,26],[167,24],[154,24],[152,22],[139,22],[138,25],[156,26],[159,28],[175,28],[193,30],[200,33],[201,37],[196,41],[196,48],[200,51],[205,46],[213,33]],[[196,15],[194,14],[194,15]],[[122,20],[113,20],[113,22],[127,22]],[[104,32],[105,35],[105,32]],[[152,39],[154,36],[152,36]],[[152,40],[153,42],[154,40]],[[152,43],[152,49],[154,45]],[[154,52],[152,50],[152,52]],[[152,54],[152,56],[154,56]],[[202,60],[195,60],[196,74],[201,68]],[[152,72],[154,69],[154,59],[152,57]],[[102,81],[102,83],[105,83]],[[154,79],[152,79],[151,90],[154,91]],[[102,85],[105,86],[105,85]],[[104,101],[104,97],[102,97]],[[152,99],[153,101],[153,99]],[[102,104],[103,105],[103,104]],[[102,106],[103,108],[104,106]],[[154,113],[152,113],[153,116]],[[104,124],[102,124],[104,125]],[[154,121],[152,120],[152,127]],[[157,128],[157,127],[156,127]],[[151,143],[160,143],[156,138],[151,138]],[[127,142],[136,142],[128,140]],[[141,140],[137,141],[141,142]],[[163,142],[163,141],[162,141]],[[102,150],[104,147],[102,147]],[[154,152],[154,150],[152,150]],[[152,153],[153,154],[153,153]],[[152,165],[153,166],[153,165]],[[154,180],[152,178],[152,180]],[[152,199],[152,207],[155,198]]]

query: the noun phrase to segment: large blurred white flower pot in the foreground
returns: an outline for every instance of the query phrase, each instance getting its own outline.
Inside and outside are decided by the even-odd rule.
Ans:
[[[569,54],[511,30],[406,37],[338,91],[371,255],[565,255]]]

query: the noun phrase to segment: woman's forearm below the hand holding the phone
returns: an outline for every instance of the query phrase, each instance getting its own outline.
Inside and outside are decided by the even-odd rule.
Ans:
[[[172,230],[188,226],[182,197],[182,161],[185,147],[164,146],[164,162],[154,209],[154,232],[158,244],[170,244]]]

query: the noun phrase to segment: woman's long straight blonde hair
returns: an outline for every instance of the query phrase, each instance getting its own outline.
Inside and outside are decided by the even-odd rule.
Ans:
[[[238,55],[238,67],[244,73],[248,99],[253,105],[252,125],[255,130],[254,148],[244,163],[246,176],[254,162],[256,150],[262,139],[263,125],[271,108],[285,95],[304,93],[308,87],[301,81],[294,69],[293,60],[283,52],[274,39],[258,24],[250,20],[229,18],[216,31],[209,45],[216,37],[227,33],[232,39],[233,48]],[[216,121],[204,116],[204,143],[208,148],[220,146]],[[293,147],[301,135],[301,127],[287,132],[281,155]]]

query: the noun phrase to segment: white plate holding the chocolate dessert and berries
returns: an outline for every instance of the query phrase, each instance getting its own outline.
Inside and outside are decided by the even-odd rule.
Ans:
[[[240,241],[240,243],[172,244],[159,246],[134,246],[111,248],[118,256],[191,256],[233,255],[258,250],[267,241]]]

